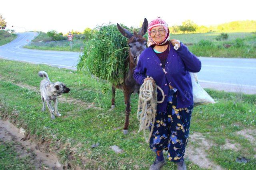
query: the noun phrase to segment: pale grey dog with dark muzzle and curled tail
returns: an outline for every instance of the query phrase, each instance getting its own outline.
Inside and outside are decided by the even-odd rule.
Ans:
[[[66,87],[66,85],[62,82],[50,82],[48,74],[45,71],[38,72],[38,76],[44,77],[44,80],[40,83],[40,92],[41,99],[43,102],[42,111],[45,111],[45,103],[47,104],[48,109],[51,113],[51,119],[55,119],[54,112],[56,116],[60,117],[61,114],[58,112],[58,100],[57,97],[63,93],[70,92],[70,89]],[[54,102],[54,109],[52,108],[51,102]]]

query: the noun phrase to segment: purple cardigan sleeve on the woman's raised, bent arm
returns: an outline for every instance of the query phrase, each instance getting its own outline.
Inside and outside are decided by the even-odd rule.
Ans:
[[[178,55],[184,62],[186,69],[190,72],[199,72],[201,70],[201,61],[188,51],[188,47],[183,43],[180,43],[180,48],[177,50]]]

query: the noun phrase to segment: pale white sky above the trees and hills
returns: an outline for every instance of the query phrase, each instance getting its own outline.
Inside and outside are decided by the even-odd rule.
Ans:
[[[83,31],[102,23],[140,26],[160,16],[169,26],[192,20],[217,25],[256,20],[255,0],[2,0],[0,14],[16,31]]]

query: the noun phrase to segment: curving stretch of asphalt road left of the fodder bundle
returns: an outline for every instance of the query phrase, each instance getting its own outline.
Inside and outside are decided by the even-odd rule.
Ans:
[[[38,35],[36,32],[17,33],[14,41],[0,46],[0,57],[15,61],[25,61],[35,64],[48,64],[61,68],[75,70],[79,54],[68,51],[47,51],[25,49],[22,46],[30,42]],[[28,41],[28,42],[27,42]]]

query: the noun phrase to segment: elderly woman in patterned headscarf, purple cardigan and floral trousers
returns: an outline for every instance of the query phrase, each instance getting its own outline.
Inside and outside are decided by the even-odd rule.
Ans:
[[[157,105],[150,139],[150,149],[156,152],[156,160],[150,170],[158,170],[166,163],[163,150],[168,150],[168,160],[176,162],[178,170],[186,170],[183,157],[193,110],[189,72],[199,72],[201,69],[200,60],[180,41],[169,40],[169,33],[164,20],[157,18],[150,22],[148,48],[141,53],[134,70],[134,79],[139,84],[143,84],[149,79],[146,76],[150,76],[154,79],[153,83],[164,91],[164,102]],[[174,49],[175,45],[178,49]],[[158,101],[162,97],[158,91]]]

